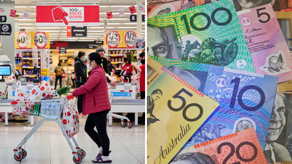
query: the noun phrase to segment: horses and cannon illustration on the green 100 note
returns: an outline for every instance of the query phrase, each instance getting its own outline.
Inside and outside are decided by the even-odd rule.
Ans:
[[[187,44],[184,56],[187,56],[187,61],[224,67],[232,63],[237,56],[238,45],[234,43],[235,40],[236,38],[219,42],[213,38],[207,38],[201,46],[194,44],[195,47],[192,50],[190,50],[189,45],[193,46],[193,44]],[[186,43],[190,43],[190,41],[188,40]],[[185,57],[182,57],[182,60],[186,60],[183,58]]]

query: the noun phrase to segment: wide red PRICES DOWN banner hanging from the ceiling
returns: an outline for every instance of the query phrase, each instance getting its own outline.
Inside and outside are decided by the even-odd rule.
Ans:
[[[99,26],[99,5],[36,5],[36,26]]]

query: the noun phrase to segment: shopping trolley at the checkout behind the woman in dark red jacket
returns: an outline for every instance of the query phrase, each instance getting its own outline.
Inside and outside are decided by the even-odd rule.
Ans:
[[[109,89],[109,91],[110,91],[110,98],[109,98],[110,103],[112,103],[112,100],[130,99],[131,94],[133,93],[132,90]],[[128,124],[128,128],[132,128],[132,123],[129,120],[129,118],[118,115],[118,114],[113,114],[111,112],[109,112],[107,115],[121,119],[121,124],[123,128],[126,127],[127,124]],[[127,123],[125,123],[124,119],[127,120]]]

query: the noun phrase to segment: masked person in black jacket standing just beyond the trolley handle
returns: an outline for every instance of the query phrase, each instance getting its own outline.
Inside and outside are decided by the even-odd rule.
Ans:
[[[76,88],[79,88],[80,86],[84,85],[87,79],[87,68],[83,62],[85,60],[86,56],[85,53],[82,51],[78,52],[78,56],[75,57],[75,63],[74,63],[74,71],[76,76]],[[78,95],[77,99],[77,109],[80,116],[82,116],[82,108],[83,108],[83,94]]]

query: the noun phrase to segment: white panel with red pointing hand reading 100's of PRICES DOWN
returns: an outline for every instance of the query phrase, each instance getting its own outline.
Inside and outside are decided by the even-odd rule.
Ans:
[[[52,10],[54,21],[63,21],[65,25],[68,22],[83,22],[84,7],[61,7],[58,6]]]

